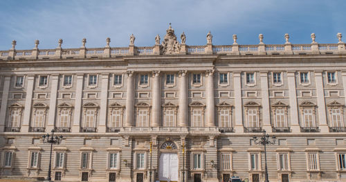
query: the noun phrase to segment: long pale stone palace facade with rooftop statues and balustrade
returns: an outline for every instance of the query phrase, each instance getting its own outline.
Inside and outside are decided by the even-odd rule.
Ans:
[[[338,43],[0,51],[0,175],[55,181],[346,181],[346,50]],[[154,39],[153,39],[154,41]],[[152,174],[150,174],[152,172]]]

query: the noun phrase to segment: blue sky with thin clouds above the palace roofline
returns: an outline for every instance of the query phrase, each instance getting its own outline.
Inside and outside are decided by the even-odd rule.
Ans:
[[[87,48],[106,45],[127,46],[129,35],[135,45],[154,45],[156,34],[161,40],[168,23],[177,37],[184,31],[188,45],[205,45],[210,30],[213,44],[229,45],[237,34],[239,44],[284,43],[289,33],[291,43],[311,43],[316,34],[318,43],[336,43],[341,32],[346,42],[345,0],[218,0],[218,1],[0,1],[0,50],[32,49],[35,39],[39,48],[56,48],[63,39],[63,48],[79,48],[86,38]],[[180,38],[179,38],[180,41]]]

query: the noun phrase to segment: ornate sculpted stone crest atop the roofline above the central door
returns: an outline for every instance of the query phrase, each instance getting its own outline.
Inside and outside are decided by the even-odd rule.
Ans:
[[[174,34],[174,29],[171,26],[167,29],[165,39],[161,43],[162,54],[179,54],[181,45],[179,41],[176,40],[176,35]]]

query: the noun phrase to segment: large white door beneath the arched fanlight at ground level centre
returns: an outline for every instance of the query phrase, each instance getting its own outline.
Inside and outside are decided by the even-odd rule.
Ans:
[[[178,181],[178,154],[161,153],[158,168],[160,181]]]

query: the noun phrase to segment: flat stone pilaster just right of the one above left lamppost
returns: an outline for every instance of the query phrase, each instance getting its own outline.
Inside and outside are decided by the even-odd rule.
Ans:
[[[80,132],[82,97],[83,97],[83,79],[84,74],[77,74],[77,83],[75,84],[75,114],[73,116],[72,132]]]

